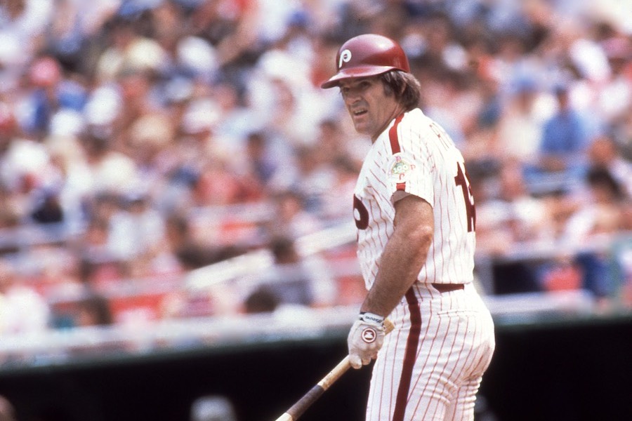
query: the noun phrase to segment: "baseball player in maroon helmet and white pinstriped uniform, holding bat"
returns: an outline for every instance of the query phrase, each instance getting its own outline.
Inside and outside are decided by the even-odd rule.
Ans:
[[[376,359],[367,421],[473,420],[494,324],[473,287],[475,208],[461,152],[419,109],[402,48],[356,36],[336,57],[337,86],[371,138],[353,197],[367,286],[348,335],[354,368]],[[383,321],[395,324],[386,336]]]

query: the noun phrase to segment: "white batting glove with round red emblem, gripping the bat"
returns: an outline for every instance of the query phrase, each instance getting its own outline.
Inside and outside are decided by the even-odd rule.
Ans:
[[[347,338],[351,366],[366,366],[376,357],[383,342],[384,318],[378,314],[360,313]]]

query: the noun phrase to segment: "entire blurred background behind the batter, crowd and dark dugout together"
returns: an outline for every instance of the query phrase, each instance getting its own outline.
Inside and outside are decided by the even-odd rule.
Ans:
[[[466,158],[478,419],[632,419],[632,1],[2,0],[0,420],[275,419],[344,356],[365,32]]]

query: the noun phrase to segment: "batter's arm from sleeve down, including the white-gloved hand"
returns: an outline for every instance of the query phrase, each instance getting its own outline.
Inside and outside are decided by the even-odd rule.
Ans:
[[[360,307],[349,336],[349,361],[360,368],[382,346],[383,320],[416,281],[433,240],[433,209],[418,196],[395,202],[395,230],[384,248],[380,269]]]

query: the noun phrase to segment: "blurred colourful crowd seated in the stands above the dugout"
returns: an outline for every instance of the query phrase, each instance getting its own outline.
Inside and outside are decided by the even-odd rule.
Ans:
[[[6,0],[0,333],[360,297],[294,241],[352,218],[370,142],[320,83],[365,32],[463,151],[494,288],[632,303],[629,1]],[[260,287],[178,293],[261,248]],[[154,314],[112,309],[143,279]]]

